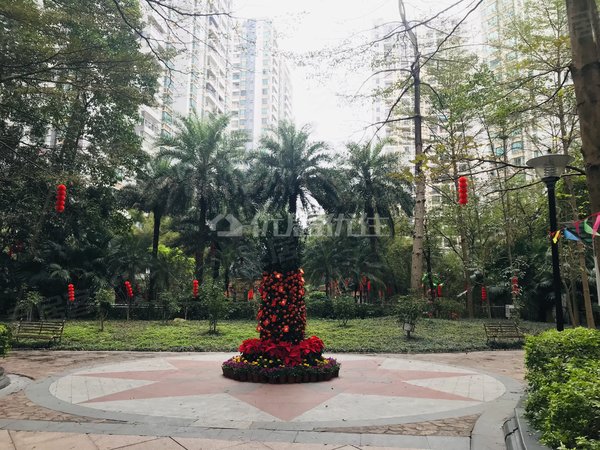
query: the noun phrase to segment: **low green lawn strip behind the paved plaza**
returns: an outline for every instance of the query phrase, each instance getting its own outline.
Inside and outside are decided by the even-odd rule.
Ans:
[[[522,322],[529,333],[552,328],[550,323]],[[240,343],[258,337],[255,321],[223,321],[217,334],[208,334],[208,322],[109,321],[100,331],[95,321],[69,321],[60,350],[237,351]],[[345,327],[338,321],[310,319],[306,335],[317,335],[329,352],[422,353],[487,350],[481,320],[423,319],[406,339],[395,318],[356,319]],[[27,342],[20,346],[26,347]],[[37,347],[31,344],[31,347]]]

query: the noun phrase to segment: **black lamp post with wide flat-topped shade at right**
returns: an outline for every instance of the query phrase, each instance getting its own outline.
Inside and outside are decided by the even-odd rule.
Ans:
[[[562,296],[560,288],[560,265],[558,260],[558,240],[554,242],[554,235],[558,229],[556,223],[556,196],[554,188],[556,182],[565,171],[567,164],[573,158],[568,155],[547,154],[527,161],[529,167],[533,167],[546,183],[548,188],[548,214],[550,216],[550,246],[552,247],[552,286],[554,288],[554,306],[556,308],[556,329],[562,331],[565,328],[565,321],[562,311]]]

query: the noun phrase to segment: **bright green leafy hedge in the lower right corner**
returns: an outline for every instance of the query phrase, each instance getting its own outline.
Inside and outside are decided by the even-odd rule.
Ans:
[[[525,410],[542,443],[599,450],[600,331],[575,328],[528,336],[525,366]]]

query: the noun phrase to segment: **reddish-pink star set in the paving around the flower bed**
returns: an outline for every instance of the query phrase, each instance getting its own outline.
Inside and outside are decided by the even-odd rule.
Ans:
[[[479,401],[410,381],[471,376],[469,372],[395,370],[381,360],[342,362],[340,377],[329,382],[273,385],[242,383],[221,375],[221,362],[167,359],[173,369],[79,373],[79,377],[142,380],[149,384],[90,398],[82,403],[228,394],[281,420],[289,421],[339,394]]]

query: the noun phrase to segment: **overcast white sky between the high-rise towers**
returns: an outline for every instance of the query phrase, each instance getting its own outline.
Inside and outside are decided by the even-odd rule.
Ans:
[[[443,9],[449,1],[407,0],[405,4],[409,16],[417,18]],[[279,33],[280,48],[295,54],[336,47],[344,39],[353,36],[359,39],[356,34],[361,32],[368,36],[378,19],[399,20],[398,0],[234,0],[233,14],[271,19]],[[371,134],[364,131],[371,121],[368,107],[349,104],[344,97],[357,91],[368,72],[328,70],[325,65],[316,70],[299,67],[294,62],[290,63],[290,69],[298,125],[310,124],[314,138],[335,146],[372,136],[372,131]],[[330,76],[323,72],[329,72]]]

